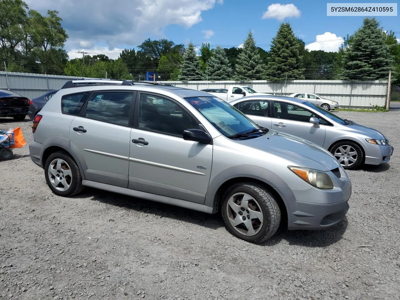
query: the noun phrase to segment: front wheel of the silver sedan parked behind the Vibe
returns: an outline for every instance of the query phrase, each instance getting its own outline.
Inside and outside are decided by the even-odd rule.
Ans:
[[[364,158],[360,146],[353,142],[339,142],[332,147],[330,152],[335,156],[343,168],[348,170],[360,166]]]

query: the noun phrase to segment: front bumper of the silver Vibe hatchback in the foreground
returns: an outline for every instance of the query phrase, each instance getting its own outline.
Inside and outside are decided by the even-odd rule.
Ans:
[[[341,188],[321,190],[278,189],[288,210],[288,230],[320,230],[330,228],[344,220],[348,200],[352,193],[350,180]]]

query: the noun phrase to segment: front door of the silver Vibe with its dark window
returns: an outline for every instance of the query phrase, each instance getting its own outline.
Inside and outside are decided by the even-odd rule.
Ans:
[[[130,136],[129,185],[142,192],[203,204],[212,164],[212,144],[184,140],[185,129],[203,129],[177,101],[140,92]],[[161,114],[156,103],[173,106]]]

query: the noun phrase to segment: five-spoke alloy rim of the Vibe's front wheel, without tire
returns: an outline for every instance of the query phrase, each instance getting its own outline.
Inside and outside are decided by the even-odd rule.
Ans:
[[[264,216],[260,204],[246,193],[236,193],[226,206],[228,220],[233,228],[245,236],[254,236],[262,228]]]

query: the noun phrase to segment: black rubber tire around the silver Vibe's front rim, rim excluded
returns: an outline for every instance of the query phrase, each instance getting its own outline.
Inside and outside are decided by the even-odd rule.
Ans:
[[[252,196],[258,202],[262,210],[264,219],[262,228],[254,236],[241,234],[230,224],[226,208],[229,198],[236,193],[246,193]],[[268,240],[268,238],[273,236],[278,230],[281,220],[281,211],[275,197],[268,189],[253,182],[240,182],[226,190],[222,198],[222,218],[224,219],[226,229],[234,236],[247,242],[261,243]]]

